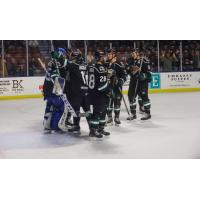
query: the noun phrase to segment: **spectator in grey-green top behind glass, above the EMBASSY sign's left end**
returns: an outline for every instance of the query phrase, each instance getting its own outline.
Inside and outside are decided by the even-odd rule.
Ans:
[[[177,62],[178,59],[175,53],[161,51],[160,61],[162,62],[162,72],[172,72],[173,62]]]

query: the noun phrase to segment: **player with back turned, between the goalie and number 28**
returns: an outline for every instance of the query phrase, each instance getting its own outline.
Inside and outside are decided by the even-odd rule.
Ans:
[[[67,94],[69,102],[74,108],[77,117],[73,117],[73,133],[80,133],[80,108],[82,107],[89,125],[91,117],[89,96],[88,96],[88,65],[85,63],[82,53],[78,49],[70,52],[70,61],[67,68],[68,87]]]

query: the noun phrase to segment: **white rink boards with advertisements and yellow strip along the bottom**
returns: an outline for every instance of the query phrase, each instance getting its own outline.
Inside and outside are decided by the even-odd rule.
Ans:
[[[41,98],[44,77],[0,78],[0,99]],[[127,94],[129,78],[123,93]],[[153,73],[149,93],[200,91],[200,72]]]

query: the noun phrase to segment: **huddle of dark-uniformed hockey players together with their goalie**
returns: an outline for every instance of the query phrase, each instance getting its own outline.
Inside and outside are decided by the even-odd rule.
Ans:
[[[133,49],[126,63],[119,62],[114,49],[105,52],[97,50],[94,60],[87,62],[78,49],[58,48],[51,53],[44,81],[44,130],[81,134],[80,119],[85,117],[89,127],[89,136],[102,138],[110,133],[106,125],[121,124],[120,110],[122,87],[130,76],[128,99],[129,117],[136,116],[136,98],[139,110],[151,118],[151,103],[148,97],[148,84],[151,82],[149,60]],[[80,109],[83,109],[83,113]]]

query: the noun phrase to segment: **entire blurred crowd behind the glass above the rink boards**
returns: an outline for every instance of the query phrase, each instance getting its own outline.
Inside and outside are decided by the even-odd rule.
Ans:
[[[112,46],[117,51],[118,59],[126,63],[131,49],[139,48],[149,58],[153,72],[200,71],[200,41],[198,40],[89,40],[85,43],[88,62],[94,58],[95,49],[104,50]],[[0,47],[0,77],[44,75],[38,58],[47,62],[52,46],[68,48],[69,41],[4,40],[3,49],[2,45]],[[70,41],[70,47],[79,48],[85,55],[83,40]]]

